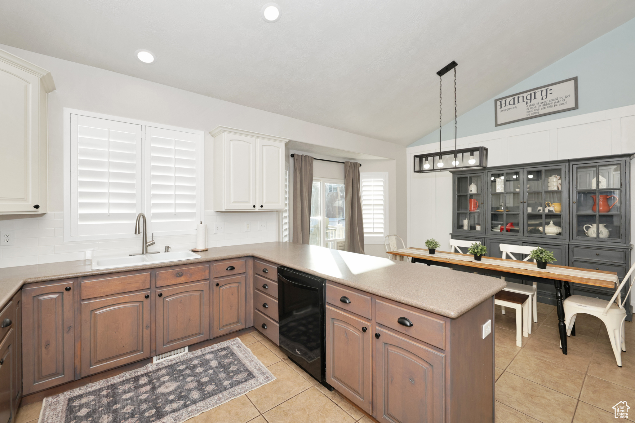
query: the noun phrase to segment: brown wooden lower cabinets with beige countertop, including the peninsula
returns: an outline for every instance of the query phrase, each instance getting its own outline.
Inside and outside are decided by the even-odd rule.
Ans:
[[[279,344],[277,266],[285,266],[327,281],[326,382],[353,403],[382,422],[493,421],[494,341],[482,329],[504,281],[289,242],[198,254],[97,271],[90,261],[3,269],[11,407],[251,327]],[[262,299],[275,307],[261,308]],[[110,326],[132,342],[104,348]]]

